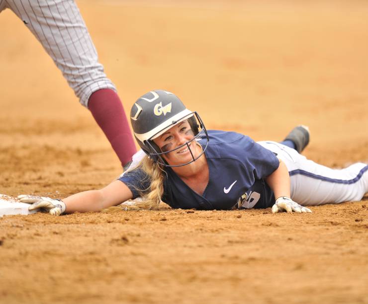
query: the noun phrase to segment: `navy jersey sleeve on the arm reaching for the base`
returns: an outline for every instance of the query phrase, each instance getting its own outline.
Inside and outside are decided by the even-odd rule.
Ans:
[[[118,180],[122,181],[133,193],[133,199],[144,196],[150,190],[151,179],[142,169],[124,172]]]

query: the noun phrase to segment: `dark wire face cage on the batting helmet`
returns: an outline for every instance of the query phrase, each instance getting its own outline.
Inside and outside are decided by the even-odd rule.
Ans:
[[[165,167],[181,167],[181,166],[185,166],[195,160],[197,160],[200,156],[202,156],[202,154],[204,153],[204,151],[206,151],[207,149],[207,146],[208,146],[208,142],[209,142],[209,138],[208,138],[208,134],[207,134],[207,130],[203,124],[203,121],[202,119],[199,117],[198,113],[197,112],[191,112],[189,113],[188,115],[184,116],[180,121],[184,121],[185,119],[190,119],[191,117],[194,118],[195,122],[198,124],[198,132],[196,135],[194,135],[194,137],[190,140],[190,141],[187,141],[185,142],[183,145],[175,148],[175,149],[172,149],[170,151],[167,151],[167,152],[159,152],[161,151],[159,149],[159,147],[157,147],[157,145],[153,142],[152,138],[155,138],[155,136],[157,134],[159,134],[160,132],[156,133],[155,135],[153,135],[150,139],[148,139],[147,141],[145,141],[145,146],[149,149],[149,154],[148,156],[153,159],[154,161],[156,161],[157,163],[165,166]],[[180,121],[173,121],[172,124],[169,126],[170,128],[173,127],[174,125],[176,125],[178,122]],[[192,127],[193,129],[193,127]],[[193,130],[194,131],[194,130]],[[193,152],[191,151],[190,147],[189,147],[189,144],[191,142],[194,142],[194,144],[196,144],[196,141],[205,137],[206,138],[206,143],[204,145],[204,147],[202,146],[202,152],[194,157],[194,154]],[[198,144],[200,145],[200,144]],[[164,154],[168,154],[168,153],[171,153],[171,152],[174,152],[176,150],[179,150],[179,149],[182,149],[183,147],[187,147],[189,152],[190,152],[190,155],[191,155],[191,160],[189,160],[188,162],[185,162],[185,163],[182,163],[182,164],[176,164],[176,165],[170,165],[168,164],[165,159],[162,157],[162,155]]]

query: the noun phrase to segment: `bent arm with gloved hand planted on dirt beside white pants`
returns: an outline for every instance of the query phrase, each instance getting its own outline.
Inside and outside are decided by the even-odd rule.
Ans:
[[[274,191],[276,202],[272,206],[272,213],[279,211],[312,213],[309,208],[295,203],[290,198],[290,176],[286,165],[280,160],[278,168],[266,178],[266,182]]]

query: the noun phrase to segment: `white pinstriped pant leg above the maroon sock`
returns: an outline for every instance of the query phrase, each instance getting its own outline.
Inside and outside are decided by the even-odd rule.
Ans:
[[[91,36],[74,0],[0,0],[11,9],[63,73],[84,106],[101,88],[116,91],[98,62]]]

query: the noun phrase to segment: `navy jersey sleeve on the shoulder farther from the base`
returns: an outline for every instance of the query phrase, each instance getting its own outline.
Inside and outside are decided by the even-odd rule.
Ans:
[[[263,179],[272,174],[280,162],[273,152],[247,138],[244,164],[253,171],[256,179]]]

